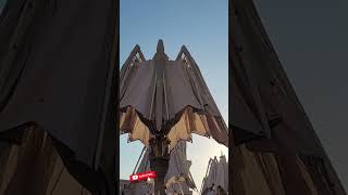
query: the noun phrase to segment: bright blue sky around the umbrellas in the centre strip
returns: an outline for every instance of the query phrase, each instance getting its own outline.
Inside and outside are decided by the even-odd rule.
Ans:
[[[227,0],[121,0],[120,63],[136,44],[146,58],[156,53],[163,39],[165,53],[175,60],[185,44],[200,67],[223,118],[228,119],[228,6]],[[194,135],[187,144],[190,171],[200,190],[210,157],[226,156],[227,147],[213,140]],[[128,179],[140,155],[142,144],[120,140],[120,177]]]

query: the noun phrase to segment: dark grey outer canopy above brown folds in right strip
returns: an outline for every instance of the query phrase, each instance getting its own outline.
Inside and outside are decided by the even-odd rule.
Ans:
[[[321,143],[265,35],[252,1],[236,1],[235,52],[232,56],[232,117],[237,143],[277,139],[287,148],[323,155]],[[240,132],[244,131],[244,132]]]

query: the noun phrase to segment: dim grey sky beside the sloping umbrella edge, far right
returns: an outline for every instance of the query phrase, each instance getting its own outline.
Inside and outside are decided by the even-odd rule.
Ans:
[[[348,190],[348,1],[254,0],[314,130]]]

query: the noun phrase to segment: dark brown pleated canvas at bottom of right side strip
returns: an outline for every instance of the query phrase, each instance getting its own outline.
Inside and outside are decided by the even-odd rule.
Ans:
[[[231,176],[235,194],[319,195],[307,167],[297,155],[276,157],[272,153],[250,152],[245,145],[235,147],[233,154],[233,170],[238,170]]]

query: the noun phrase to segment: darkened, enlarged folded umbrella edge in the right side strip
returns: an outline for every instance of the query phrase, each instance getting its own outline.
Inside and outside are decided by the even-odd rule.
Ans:
[[[252,0],[231,5],[233,193],[345,195]]]

